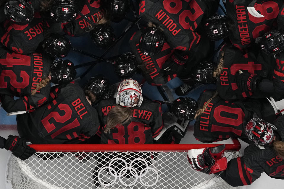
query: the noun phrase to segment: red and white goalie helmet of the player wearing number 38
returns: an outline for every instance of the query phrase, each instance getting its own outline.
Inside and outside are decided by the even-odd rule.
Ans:
[[[124,79],[120,82],[116,95],[117,105],[122,107],[139,107],[142,101],[142,90],[136,80]]]

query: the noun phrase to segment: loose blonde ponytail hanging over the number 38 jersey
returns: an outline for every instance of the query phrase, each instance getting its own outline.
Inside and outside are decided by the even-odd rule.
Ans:
[[[104,133],[109,133],[112,128],[118,124],[122,125],[131,120],[133,113],[129,107],[116,106],[109,110],[109,113],[106,117],[106,128]]]

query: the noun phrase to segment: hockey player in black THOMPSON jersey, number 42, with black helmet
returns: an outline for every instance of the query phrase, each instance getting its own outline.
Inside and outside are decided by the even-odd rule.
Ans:
[[[76,76],[74,64],[69,60],[52,61],[45,53],[22,55],[3,47],[0,51],[3,69],[0,96],[4,110],[9,113],[38,108],[49,97],[50,82],[62,84]],[[15,100],[14,96],[20,98]]]

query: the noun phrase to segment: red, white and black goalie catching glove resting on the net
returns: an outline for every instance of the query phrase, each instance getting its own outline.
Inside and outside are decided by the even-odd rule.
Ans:
[[[210,175],[226,170],[227,159],[223,157],[224,151],[225,144],[213,148],[191,149],[188,150],[187,158],[194,170]]]

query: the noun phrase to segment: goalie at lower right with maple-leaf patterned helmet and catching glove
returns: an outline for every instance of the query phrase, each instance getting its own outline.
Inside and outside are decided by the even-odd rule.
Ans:
[[[225,145],[188,151],[193,169],[206,174],[214,173],[231,186],[250,185],[265,172],[271,178],[284,179],[284,115],[273,124],[254,118],[245,127],[251,141],[243,157],[227,162],[222,158]],[[200,162],[204,161],[202,164]]]

